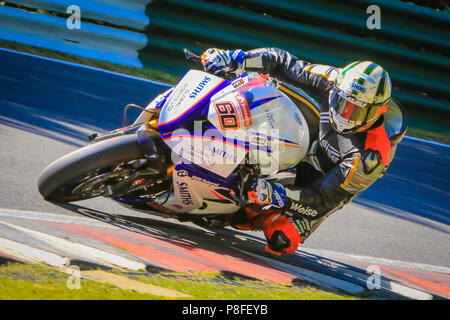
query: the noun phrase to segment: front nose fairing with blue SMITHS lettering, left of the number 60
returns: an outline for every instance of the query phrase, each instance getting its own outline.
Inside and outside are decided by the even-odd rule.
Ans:
[[[204,131],[199,124],[200,128],[195,130],[195,121],[205,118],[203,112],[205,108],[207,111],[210,98],[228,85],[229,82],[222,78],[202,71],[189,71],[164,104],[158,123],[163,141],[184,163],[194,163],[222,177],[233,172],[247,149],[233,141],[225,141],[215,128]],[[187,127],[194,127],[194,131]],[[173,162],[180,160],[172,158]]]

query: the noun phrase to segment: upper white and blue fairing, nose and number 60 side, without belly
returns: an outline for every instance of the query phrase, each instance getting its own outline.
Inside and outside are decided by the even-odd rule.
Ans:
[[[195,122],[206,117],[210,128]],[[184,163],[221,177],[228,177],[247,153],[263,175],[293,168],[309,145],[301,112],[267,77],[257,74],[228,82],[189,71],[164,104],[158,127]]]

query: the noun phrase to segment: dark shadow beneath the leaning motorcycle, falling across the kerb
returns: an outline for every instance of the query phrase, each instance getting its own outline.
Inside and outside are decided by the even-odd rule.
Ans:
[[[337,290],[344,294],[351,292],[352,295],[357,296],[387,294],[386,292],[376,293],[367,290],[366,284],[370,275],[362,268],[304,252],[301,249],[294,254],[274,256],[265,252],[264,240],[238,230],[193,227],[188,224],[171,223],[169,220],[115,216],[75,204],[55,203],[55,205],[127,231],[157,238],[185,249],[188,248],[193,261],[195,261],[196,255],[200,254],[200,256],[204,257],[205,252],[210,252],[210,257],[215,256],[219,265],[221,264],[219,262],[220,257],[227,256],[255,265],[269,265],[275,269],[295,274],[298,278],[293,280],[292,284],[300,287],[317,287],[330,292],[336,292]],[[158,270],[155,270],[155,272],[158,272]],[[256,280],[256,278],[252,278],[248,274],[243,275],[229,270],[222,270],[221,274],[230,279],[237,277],[241,280]],[[329,281],[330,277],[336,279],[337,282],[341,281],[341,284],[339,284],[342,286],[341,289],[333,287],[336,284],[326,284],[324,279]],[[383,279],[389,280],[389,278],[384,276]],[[339,287],[339,285],[337,286]],[[352,291],[355,290],[354,288],[359,288],[357,294],[355,291]],[[390,296],[390,298],[392,297]]]

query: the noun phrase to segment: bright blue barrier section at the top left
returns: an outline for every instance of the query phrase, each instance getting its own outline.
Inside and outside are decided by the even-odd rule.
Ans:
[[[1,39],[142,67],[138,51],[147,45],[147,36],[142,30],[149,22],[145,14],[145,6],[150,2],[148,0],[76,1],[81,9],[79,30],[67,28],[69,15],[66,10],[73,1],[10,2],[26,6],[27,9],[45,9],[57,14],[0,6]]]

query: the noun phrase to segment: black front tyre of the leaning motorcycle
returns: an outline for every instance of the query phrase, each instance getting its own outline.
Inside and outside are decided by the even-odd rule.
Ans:
[[[72,194],[82,178],[95,170],[144,158],[136,134],[114,137],[89,144],[52,162],[38,180],[40,194],[46,199],[69,202],[89,199]]]

